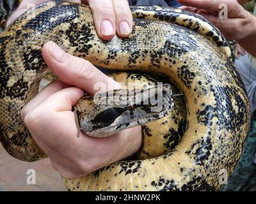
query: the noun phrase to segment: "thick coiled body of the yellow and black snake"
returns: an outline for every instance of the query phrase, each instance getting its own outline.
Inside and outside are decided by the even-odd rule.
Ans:
[[[90,7],[68,1],[40,4],[0,34],[1,144],[22,161],[47,157],[22,122],[20,111],[38,92],[48,70],[42,46],[54,41],[69,54],[113,70],[110,76],[117,82],[138,82],[137,91],[152,90],[152,83],[170,84],[163,94],[168,111],[155,114],[156,120],[145,123],[143,110],[148,110],[142,106],[122,106],[121,113],[109,107],[110,113],[121,117],[117,124],[122,124],[125,111],[141,124],[141,149],[81,178],[64,179],[68,190],[216,191],[224,176],[234,171],[250,128],[248,96],[230,60],[228,43],[211,22],[190,11],[160,6],[131,6],[131,11],[133,29],[128,38],[101,40]],[[86,97],[92,105],[92,96]],[[77,116],[88,116],[82,110],[88,106],[78,102]],[[102,128],[106,117],[99,115],[106,110],[106,106],[96,108],[88,116],[90,128],[84,129]],[[140,119],[132,117],[134,113]],[[120,130],[111,126],[115,117],[109,117],[110,122],[105,121],[109,131]],[[124,121],[126,128],[131,127],[129,120]]]

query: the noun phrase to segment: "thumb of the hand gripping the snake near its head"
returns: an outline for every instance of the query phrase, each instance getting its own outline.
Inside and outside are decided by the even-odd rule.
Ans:
[[[53,42],[44,45],[42,55],[49,68],[61,81],[95,94],[99,91],[120,89],[121,85],[104,75],[92,63],[65,53]]]

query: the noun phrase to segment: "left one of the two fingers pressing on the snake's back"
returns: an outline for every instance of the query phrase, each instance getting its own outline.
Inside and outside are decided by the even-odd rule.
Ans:
[[[102,40],[111,40],[116,33],[115,11],[111,0],[88,1],[93,13],[97,34]]]

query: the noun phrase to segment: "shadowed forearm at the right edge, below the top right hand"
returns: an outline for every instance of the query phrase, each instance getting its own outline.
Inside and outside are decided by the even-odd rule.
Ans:
[[[248,53],[256,57],[256,17],[252,17],[252,31],[250,34],[241,40],[237,40],[239,45]]]

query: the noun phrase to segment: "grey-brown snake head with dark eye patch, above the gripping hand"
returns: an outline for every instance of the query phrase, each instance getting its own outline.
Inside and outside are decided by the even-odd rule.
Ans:
[[[77,123],[86,135],[104,137],[161,119],[172,107],[169,84],[147,89],[118,89],[81,99],[76,105]]]

